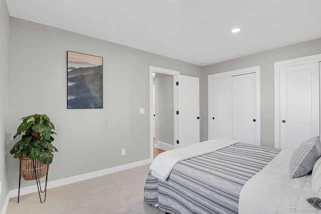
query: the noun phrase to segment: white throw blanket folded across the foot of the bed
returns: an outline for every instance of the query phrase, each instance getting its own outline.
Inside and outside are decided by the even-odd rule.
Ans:
[[[163,152],[157,155],[149,166],[151,175],[166,180],[179,161],[207,154],[238,142],[238,140],[233,139],[217,138]]]

